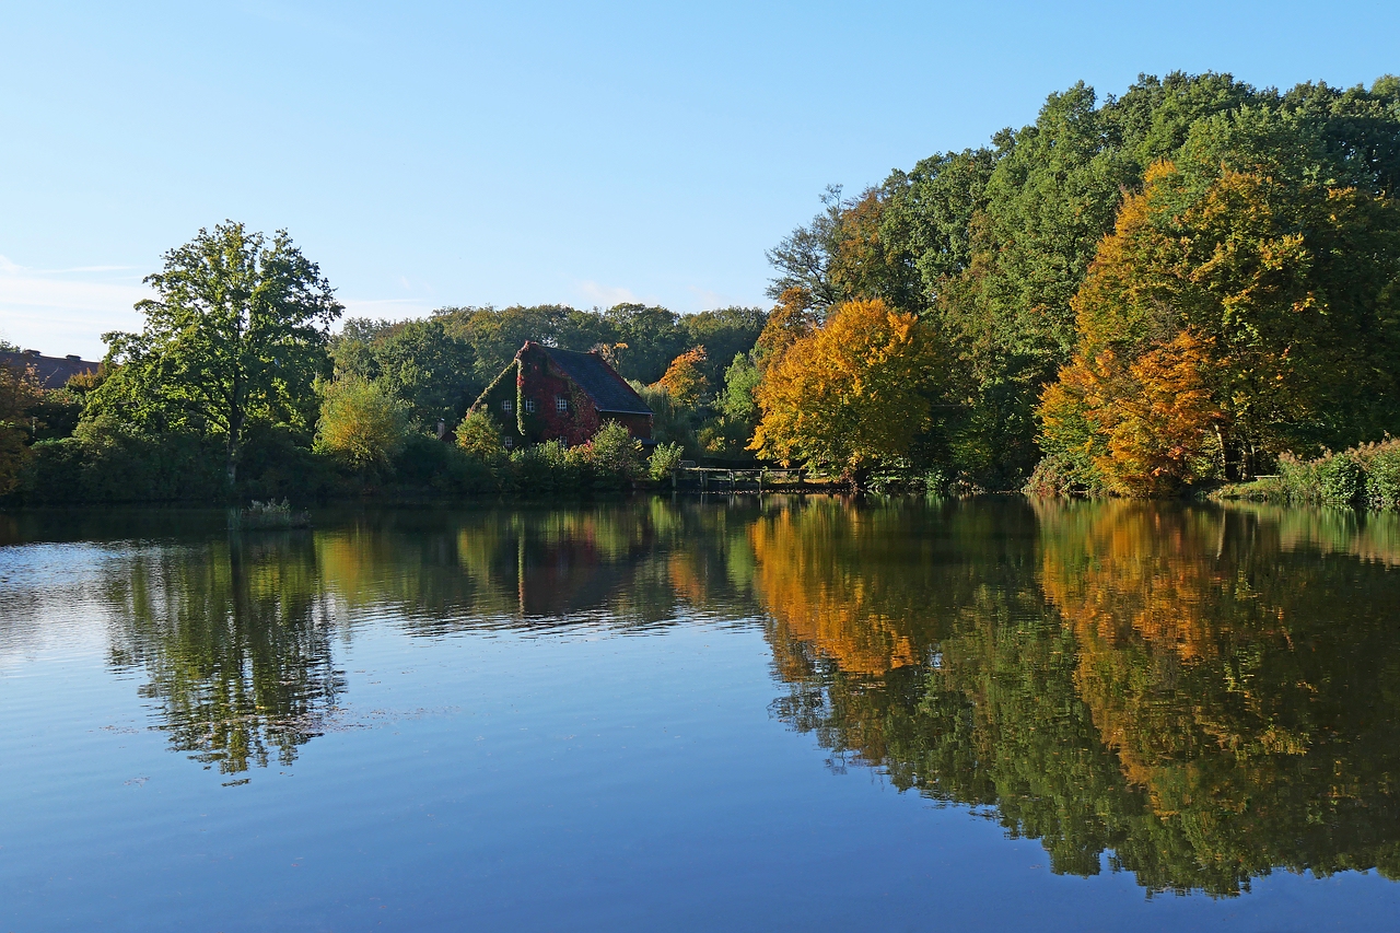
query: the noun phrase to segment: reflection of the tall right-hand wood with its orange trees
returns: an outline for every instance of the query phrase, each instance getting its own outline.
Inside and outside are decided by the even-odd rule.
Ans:
[[[1214,894],[1275,867],[1400,874],[1400,577],[1291,553],[1254,511],[1042,507],[1039,545],[1015,507],[969,514],[1000,525],[755,530],[784,719],[900,789],[995,807],[1057,871],[1107,853]]]

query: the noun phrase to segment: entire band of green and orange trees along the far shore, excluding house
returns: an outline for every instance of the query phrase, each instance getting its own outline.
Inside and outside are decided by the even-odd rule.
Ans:
[[[283,233],[230,223],[167,254],[146,329],[105,335],[101,374],[50,392],[4,374],[0,495],[325,497],[641,475],[626,438],[507,457],[489,423],[459,427],[539,340],[596,349],[631,380],[665,464],[1124,496],[1338,474],[1324,495],[1264,492],[1394,504],[1397,182],[1400,78],[1278,91],[1175,73],[1103,99],[1078,84],[984,147],[857,196],[827,189],[769,254],[769,311],[452,307],[333,333],[342,308],[315,263]]]

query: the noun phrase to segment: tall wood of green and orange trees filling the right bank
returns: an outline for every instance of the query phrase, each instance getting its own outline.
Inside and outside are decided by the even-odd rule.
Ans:
[[[1396,77],[1051,94],[988,146],[829,189],[771,251],[753,444],[857,479],[1151,496],[1380,441],[1397,182]]]

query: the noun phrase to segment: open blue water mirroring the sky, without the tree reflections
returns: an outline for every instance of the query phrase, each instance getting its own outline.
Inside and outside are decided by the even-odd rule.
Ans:
[[[833,775],[770,713],[757,625],[622,625],[636,577],[543,630],[456,604],[463,625],[424,637],[417,605],[340,601],[323,734],[288,766],[206,772],[106,656],[97,584],[133,552],[0,548],[0,639],[29,646],[0,665],[0,929],[1386,929],[1400,909],[1375,873],[1229,901],[1053,876],[1037,841]]]

